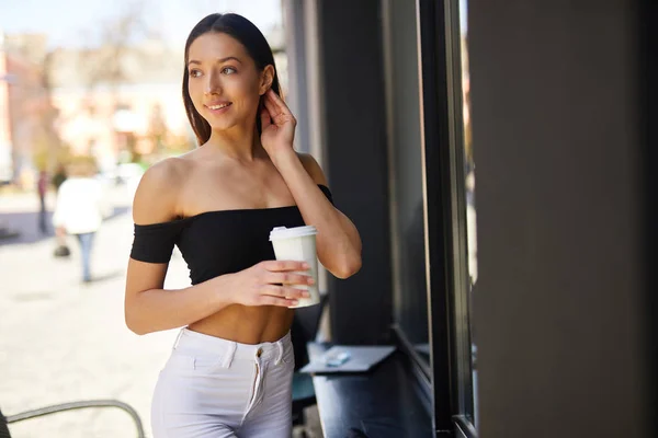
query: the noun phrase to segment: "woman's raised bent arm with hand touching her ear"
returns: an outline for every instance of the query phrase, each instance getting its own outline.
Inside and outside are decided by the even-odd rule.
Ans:
[[[318,184],[327,178],[317,161],[293,149],[296,120],[286,104],[271,90],[263,99],[261,142],[283,176],[304,222],[318,230],[320,263],[336,277],[348,278],[361,268],[361,237],[354,223],[327,199]]]

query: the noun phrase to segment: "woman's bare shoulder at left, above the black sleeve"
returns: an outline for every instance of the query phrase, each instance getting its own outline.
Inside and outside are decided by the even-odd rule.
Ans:
[[[133,201],[135,223],[166,222],[179,215],[179,194],[191,166],[183,155],[164,159],[146,171]]]

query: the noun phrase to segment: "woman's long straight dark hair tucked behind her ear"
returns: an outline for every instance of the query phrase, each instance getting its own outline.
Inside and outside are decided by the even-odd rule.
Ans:
[[[206,119],[198,114],[194,107],[194,103],[192,103],[192,97],[190,97],[190,91],[188,90],[188,84],[190,82],[190,74],[188,73],[188,57],[192,43],[194,43],[194,41],[201,35],[207,33],[223,33],[236,38],[245,46],[247,53],[253,59],[256,68],[259,71],[263,71],[266,66],[274,67],[272,91],[281,96],[281,87],[279,84],[276,66],[274,65],[274,55],[272,54],[272,48],[270,47],[270,44],[268,44],[268,41],[261,31],[242,15],[235,13],[209,14],[196,23],[192,32],[190,32],[190,36],[188,36],[188,42],[185,43],[185,66],[183,69],[183,103],[185,104],[188,119],[190,119],[190,124],[192,125],[192,129],[194,129],[194,134],[196,135],[196,140],[198,141],[200,146],[208,141],[212,129]],[[261,106],[259,105],[259,112],[260,108]],[[260,114],[256,115],[256,125],[260,135]]]

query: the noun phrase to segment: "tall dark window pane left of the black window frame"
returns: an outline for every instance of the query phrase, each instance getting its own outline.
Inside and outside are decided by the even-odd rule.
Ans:
[[[429,368],[416,2],[385,4],[395,322]]]

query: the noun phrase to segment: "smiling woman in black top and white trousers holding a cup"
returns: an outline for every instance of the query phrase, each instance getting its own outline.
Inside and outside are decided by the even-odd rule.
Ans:
[[[133,215],[125,315],[137,334],[181,327],[160,372],[160,437],[290,437],[294,367],[290,307],[308,266],[274,261],[274,227],[317,228],[320,263],[361,267],[354,224],[331,203],[317,162],[293,149],[272,50],[236,14],[212,14],[185,45],[183,101],[200,148],[144,175]],[[192,287],[163,290],[173,245]]]

